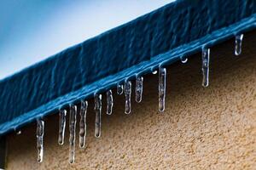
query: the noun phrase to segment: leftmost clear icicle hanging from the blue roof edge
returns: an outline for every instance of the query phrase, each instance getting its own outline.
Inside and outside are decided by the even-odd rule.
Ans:
[[[44,121],[41,119],[37,120],[37,149],[38,149],[38,162],[43,161],[44,157]]]

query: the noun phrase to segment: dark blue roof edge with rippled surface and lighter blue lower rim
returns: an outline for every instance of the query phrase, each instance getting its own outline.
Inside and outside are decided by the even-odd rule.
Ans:
[[[256,28],[255,0],[180,0],[0,82],[0,134]]]

